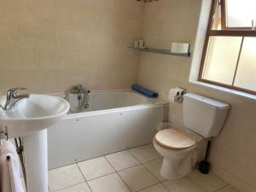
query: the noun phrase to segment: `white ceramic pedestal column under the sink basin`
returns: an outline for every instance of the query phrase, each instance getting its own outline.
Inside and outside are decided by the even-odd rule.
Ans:
[[[23,137],[26,192],[48,192],[47,130]]]

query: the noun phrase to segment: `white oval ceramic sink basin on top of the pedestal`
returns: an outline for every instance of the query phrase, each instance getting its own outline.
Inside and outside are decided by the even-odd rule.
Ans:
[[[4,105],[5,96],[0,100]],[[25,137],[58,123],[67,114],[69,103],[57,96],[30,95],[11,110],[0,109],[0,126],[7,126],[9,138]]]

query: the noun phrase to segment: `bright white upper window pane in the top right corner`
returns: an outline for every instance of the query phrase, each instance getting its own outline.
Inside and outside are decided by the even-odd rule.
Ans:
[[[251,27],[256,20],[255,0],[226,0],[227,27]]]

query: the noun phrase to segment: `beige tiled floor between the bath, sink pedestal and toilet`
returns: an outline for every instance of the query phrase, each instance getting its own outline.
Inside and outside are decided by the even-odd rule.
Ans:
[[[175,181],[160,176],[161,157],[152,145],[108,154],[49,171],[53,192],[237,192],[214,174],[194,171]]]

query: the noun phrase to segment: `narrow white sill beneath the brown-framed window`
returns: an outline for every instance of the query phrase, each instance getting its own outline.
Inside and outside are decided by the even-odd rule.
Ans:
[[[242,97],[245,97],[247,99],[256,101],[256,96],[254,96],[252,94],[245,93],[245,92],[241,92],[239,90],[231,90],[229,88],[221,87],[221,86],[218,86],[218,85],[215,85],[215,84],[207,84],[207,83],[204,83],[204,82],[201,82],[201,81],[189,81],[189,83],[200,85],[200,86],[203,86],[207,89],[223,91],[223,92],[231,94],[231,95],[242,96]]]

